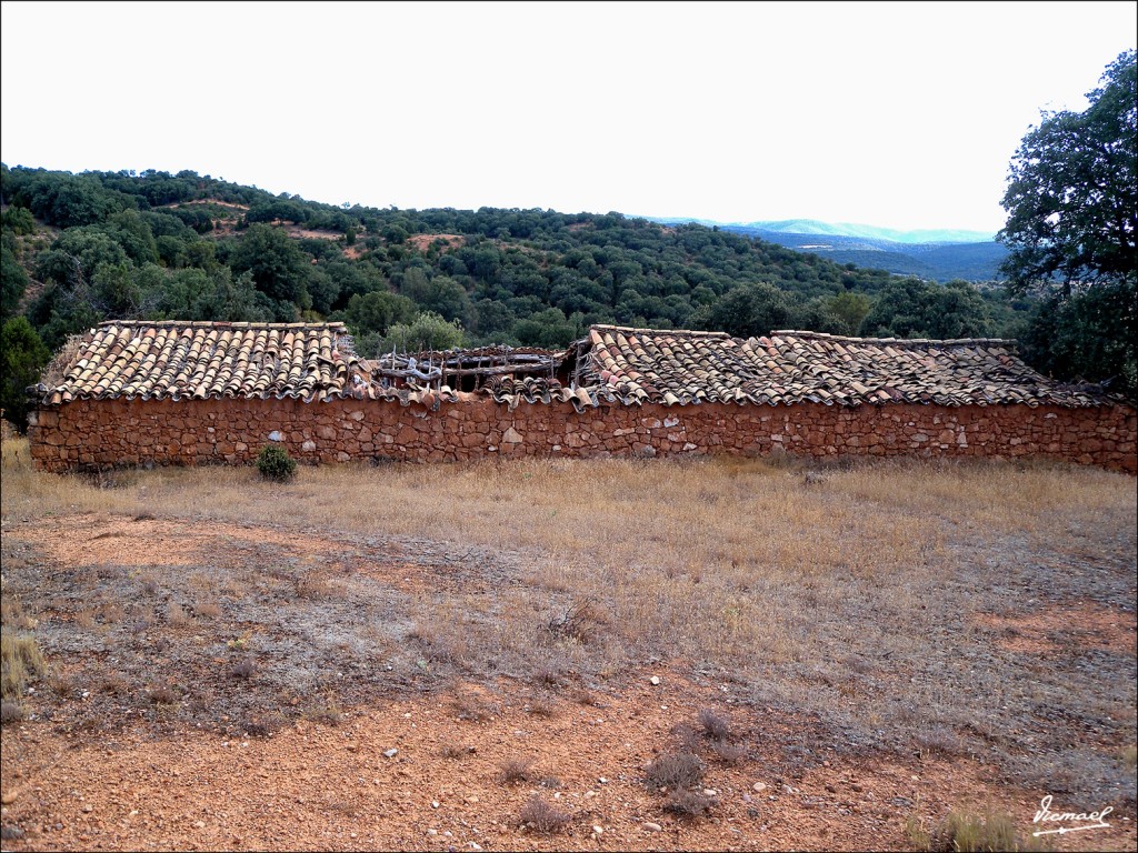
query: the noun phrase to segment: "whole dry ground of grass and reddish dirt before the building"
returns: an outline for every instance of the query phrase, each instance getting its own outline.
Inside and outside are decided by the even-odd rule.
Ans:
[[[941,514],[877,491],[887,474]],[[1133,480],[955,475],[819,487],[794,469],[602,462],[92,483],[8,454],[5,630],[47,665],[0,735],[3,850],[906,850],[950,810],[1028,837],[1048,793],[1056,810],[1113,806],[1110,829],[1055,848],[1135,850]],[[978,497],[990,477],[1038,523],[997,517]],[[553,503],[618,483],[640,495],[633,550],[627,520],[605,538],[619,511]],[[706,532],[728,527],[702,545],[675,529],[669,483]],[[593,527],[529,541],[549,506]],[[840,583],[761,552],[807,547],[782,541],[791,528],[744,540],[723,520],[769,524],[777,506],[819,541],[831,520],[842,553],[810,553],[847,565]],[[874,537],[859,569],[855,539]],[[650,784],[683,753],[696,814]],[[564,823],[527,825],[535,797]]]

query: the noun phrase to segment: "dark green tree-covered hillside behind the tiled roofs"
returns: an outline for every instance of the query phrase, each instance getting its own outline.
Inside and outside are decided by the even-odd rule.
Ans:
[[[44,347],[107,317],[343,320],[372,355],[561,347],[592,323],[1008,336],[1026,306],[963,281],[616,213],[337,207],[193,172],[7,166],[0,196],[3,405],[14,415]]]

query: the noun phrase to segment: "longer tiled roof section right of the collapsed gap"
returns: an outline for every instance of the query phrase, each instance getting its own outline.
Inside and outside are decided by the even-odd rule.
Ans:
[[[589,330],[585,382],[628,404],[1023,403],[1096,406],[1096,389],[1054,382],[1016,358],[1013,341],[897,340],[775,331],[740,340],[723,332],[621,326]]]

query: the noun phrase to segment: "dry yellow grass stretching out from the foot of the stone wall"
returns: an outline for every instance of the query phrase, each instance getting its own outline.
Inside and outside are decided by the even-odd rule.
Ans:
[[[1059,528],[1077,543],[1080,531],[1132,530],[1135,514],[1133,480],[1121,474],[916,461],[810,478],[793,462],[737,458],[349,465],[303,467],[281,486],[251,467],[42,474],[17,440],[5,442],[3,480],[5,515],[274,524],[284,508],[290,525],[531,555],[527,585],[496,602],[457,595],[431,608],[422,627],[460,659],[477,655],[471,620],[492,612],[509,623],[501,614],[533,613],[550,595],[571,594],[599,602],[626,643],[648,648],[667,638],[670,652],[695,659],[807,662],[816,651],[803,641],[816,629],[811,613],[840,611],[851,581],[888,587],[891,612],[921,606],[923,582],[949,561],[946,537],[1030,540]],[[884,627],[874,630],[889,639]],[[519,652],[531,641],[501,633]]]

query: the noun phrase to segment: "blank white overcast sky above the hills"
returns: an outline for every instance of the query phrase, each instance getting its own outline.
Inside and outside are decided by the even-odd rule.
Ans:
[[[996,231],[1138,3],[3,2],[0,159],[329,204]]]

